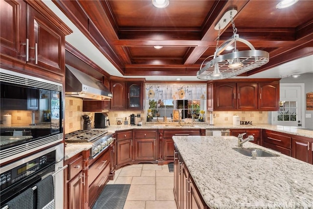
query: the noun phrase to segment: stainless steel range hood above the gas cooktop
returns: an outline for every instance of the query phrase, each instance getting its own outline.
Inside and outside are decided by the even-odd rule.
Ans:
[[[113,97],[99,80],[69,65],[65,73],[65,94],[84,99],[106,100]]]

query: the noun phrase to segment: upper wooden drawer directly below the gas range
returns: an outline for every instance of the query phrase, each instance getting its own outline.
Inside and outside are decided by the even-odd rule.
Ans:
[[[97,178],[101,171],[110,164],[110,151],[106,151],[88,170],[88,186]],[[110,166],[109,166],[110,167]]]

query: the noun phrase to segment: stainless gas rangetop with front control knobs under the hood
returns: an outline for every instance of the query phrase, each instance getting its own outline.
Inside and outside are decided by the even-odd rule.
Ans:
[[[106,129],[78,130],[65,135],[66,143],[91,143],[92,158],[100,154],[113,140],[113,132]]]

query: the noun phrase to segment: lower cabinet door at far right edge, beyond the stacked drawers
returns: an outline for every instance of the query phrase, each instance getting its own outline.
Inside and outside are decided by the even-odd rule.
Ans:
[[[306,163],[312,162],[313,143],[303,139],[292,138],[292,157]]]

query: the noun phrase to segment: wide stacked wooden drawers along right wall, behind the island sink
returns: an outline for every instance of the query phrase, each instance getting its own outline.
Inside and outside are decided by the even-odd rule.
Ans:
[[[262,130],[263,146],[291,156],[291,135]]]

